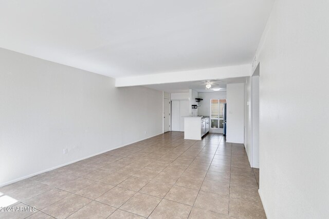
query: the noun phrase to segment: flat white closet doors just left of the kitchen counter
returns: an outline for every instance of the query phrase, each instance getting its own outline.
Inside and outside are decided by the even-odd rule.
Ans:
[[[171,101],[171,130],[184,131],[184,117],[189,116],[189,101]]]

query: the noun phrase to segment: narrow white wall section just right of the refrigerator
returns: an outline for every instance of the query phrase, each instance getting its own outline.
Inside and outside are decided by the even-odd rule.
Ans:
[[[244,86],[243,83],[227,85],[227,142],[244,143]]]

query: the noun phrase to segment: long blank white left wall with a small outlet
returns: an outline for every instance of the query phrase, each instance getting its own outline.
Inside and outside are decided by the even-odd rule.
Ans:
[[[114,85],[0,49],[0,186],[162,133],[162,92]]]

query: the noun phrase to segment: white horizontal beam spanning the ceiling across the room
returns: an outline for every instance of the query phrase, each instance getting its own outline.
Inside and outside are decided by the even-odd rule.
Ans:
[[[210,79],[225,79],[251,75],[251,65],[226,66],[190,71],[178,71],[159,74],[148,74],[131,77],[119,77],[115,80],[116,87],[154,85],[177,82],[192,82]]]

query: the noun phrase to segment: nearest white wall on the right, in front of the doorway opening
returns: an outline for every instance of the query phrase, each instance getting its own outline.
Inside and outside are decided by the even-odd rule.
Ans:
[[[329,218],[329,1],[277,0],[258,50],[260,195],[272,218]]]

